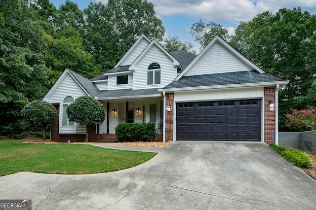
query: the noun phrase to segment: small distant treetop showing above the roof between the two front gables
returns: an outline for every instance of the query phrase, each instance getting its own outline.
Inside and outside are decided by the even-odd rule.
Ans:
[[[168,38],[164,39],[162,46],[169,52],[184,50],[193,54],[197,54],[197,52],[193,50],[193,44],[188,41],[179,40],[178,36],[168,36]]]

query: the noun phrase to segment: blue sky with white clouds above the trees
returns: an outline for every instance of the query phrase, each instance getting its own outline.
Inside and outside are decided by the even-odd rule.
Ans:
[[[57,8],[66,0],[50,0]],[[100,0],[71,0],[76,2],[79,9]],[[147,0],[155,6],[156,15],[166,29],[165,37],[178,36],[182,41],[189,41],[195,45],[198,52],[199,46],[189,33],[192,24],[200,19],[204,23],[213,21],[221,24],[234,33],[238,23],[250,21],[257,14],[270,11],[276,12],[280,8],[293,9],[301,7],[302,11],[316,13],[316,0]],[[101,0],[104,4],[108,0]]]

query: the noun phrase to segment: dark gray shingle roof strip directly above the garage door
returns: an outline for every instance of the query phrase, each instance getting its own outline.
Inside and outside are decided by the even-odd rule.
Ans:
[[[282,81],[268,73],[259,73],[257,71],[237,71],[228,73],[203,74],[195,76],[184,76],[178,81],[173,81],[163,89],[216,86],[230,84],[246,84],[259,82]]]

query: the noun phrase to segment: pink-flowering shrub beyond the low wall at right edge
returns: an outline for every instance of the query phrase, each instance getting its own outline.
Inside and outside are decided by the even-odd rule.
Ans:
[[[291,114],[285,114],[285,126],[293,131],[311,131],[316,130],[316,107],[297,110],[291,109]]]

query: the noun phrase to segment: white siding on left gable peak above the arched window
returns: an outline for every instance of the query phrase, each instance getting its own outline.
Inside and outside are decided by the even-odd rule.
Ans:
[[[76,100],[78,97],[83,95],[86,95],[85,92],[81,89],[78,83],[68,74],[48,100],[50,104],[57,104],[62,103],[66,96],[71,96],[74,98],[74,100]]]

